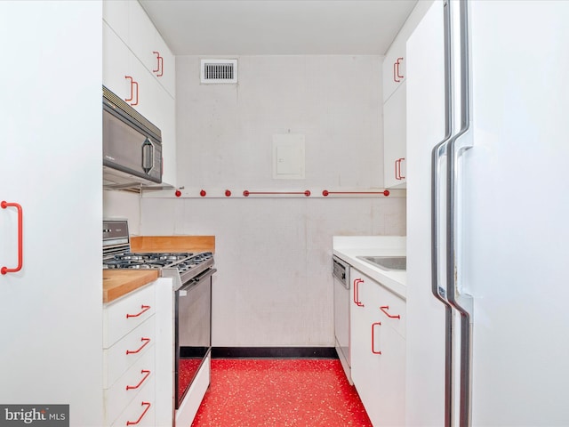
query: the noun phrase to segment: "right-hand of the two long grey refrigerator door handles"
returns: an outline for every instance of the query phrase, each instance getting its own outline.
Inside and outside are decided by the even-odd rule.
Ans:
[[[453,2],[449,2],[453,3]],[[448,302],[458,311],[461,317],[461,346],[460,346],[460,407],[459,426],[471,425],[471,372],[472,372],[472,297],[460,292],[459,286],[461,261],[461,234],[459,220],[461,217],[459,188],[461,170],[459,158],[472,147],[471,138],[467,138],[470,130],[470,87],[469,87],[469,27],[468,0],[461,0],[458,14],[451,10],[451,19],[460,21],[457,44],[453,44],[453,54],[460,58],[456,76],[460,87],[461,130],[448,142],[447,173],[446,173],[446,283]]]

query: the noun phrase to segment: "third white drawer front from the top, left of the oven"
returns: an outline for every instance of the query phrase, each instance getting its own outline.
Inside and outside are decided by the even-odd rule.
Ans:
[[[132,399],[154,384],[154,345],[140,357],[109,389],[103,391],[106,424],[113,423]]]

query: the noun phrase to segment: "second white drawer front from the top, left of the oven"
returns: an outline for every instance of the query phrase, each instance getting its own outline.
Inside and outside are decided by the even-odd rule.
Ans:
[[[108,389],[132,365],[146,353],[154,354],[156,339],[155,318],[148,318],[142,325],[103,350],[103,388]]]

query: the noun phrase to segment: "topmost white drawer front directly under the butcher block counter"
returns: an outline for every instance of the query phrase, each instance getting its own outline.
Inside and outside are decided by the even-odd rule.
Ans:
[[[107,304],[103,310],[103,348],[111,347],[150,318],[155,310],[154,285],[144,286],[116,302]]]

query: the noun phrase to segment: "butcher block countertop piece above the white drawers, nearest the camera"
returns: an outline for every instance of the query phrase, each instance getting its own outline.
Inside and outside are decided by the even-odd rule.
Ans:
[[[113,302],[156,278],[158,270],[103,270],[103,302]]]

